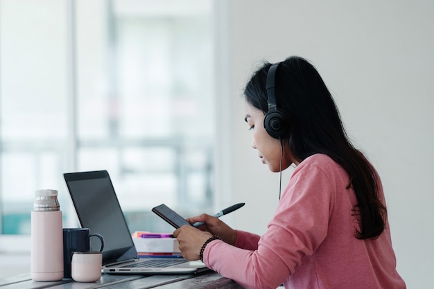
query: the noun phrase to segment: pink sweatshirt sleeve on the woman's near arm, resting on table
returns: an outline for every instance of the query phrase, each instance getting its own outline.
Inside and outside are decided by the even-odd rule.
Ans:
[[[238,231],[239,247],[213,241],[205,248],[204,262],[244,288],[275,289],[327,236],[332,206],[333,188],[327,174],[318,166],[302,162],[282,194],[266,233],[257,236],[258,240],[254,234]]]

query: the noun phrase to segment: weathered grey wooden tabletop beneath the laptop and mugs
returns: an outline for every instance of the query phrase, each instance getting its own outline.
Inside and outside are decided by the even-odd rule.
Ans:
[[[36,282],[31,274],[20,274],[0,279],[1,289],[240,289],[242,288],[231,279],[220,276],[214,271],[194,275],[110,275],[103,274],[99,281],[94,283],[79,283],[72,279],[63,279],[55,282]]]

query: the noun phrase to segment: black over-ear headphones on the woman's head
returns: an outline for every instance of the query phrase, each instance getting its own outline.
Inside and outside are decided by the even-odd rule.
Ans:
[[[288,117],[285,112],[277,110],[276,96],[275,96],[275,77],[276,70],[280,62],[272,64],[267,73],[267,103],[268,112],[263,119],[263,126],[266,128],[268,134],[275,139],[282,139],[288,134]]]

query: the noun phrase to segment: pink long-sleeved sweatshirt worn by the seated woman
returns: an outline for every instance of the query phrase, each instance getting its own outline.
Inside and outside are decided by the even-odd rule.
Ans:
[[[236,246],[214,240],[205,264],[245,288],[401,289],[387,228],[375,240],[355,237],[349,177],[327,155],[297,166],[263,236],[238,231]],[[380,188],[384,201],[383,189]]]

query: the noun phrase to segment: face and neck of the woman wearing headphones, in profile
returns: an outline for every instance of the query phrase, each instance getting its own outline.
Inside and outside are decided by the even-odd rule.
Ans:
[[[259,158],[263,164],[267,164],[272,172],[280,170],[281,144],[279,139],[275,139],[268,134],[263,126],[265,115],[256,107],[245,103],[245,121],[253,133],[252,148],[258,150]],[[292,155],[288,148],[284,149],[281,169],[284,170],[293,163]]]

